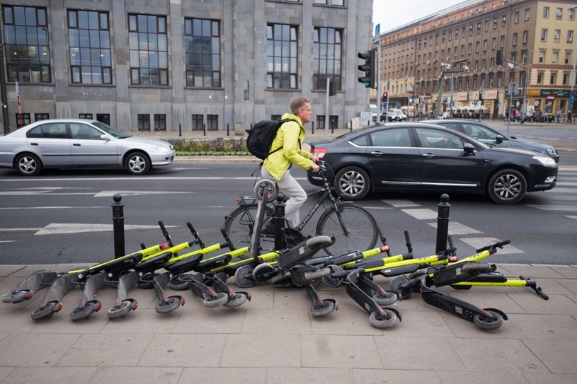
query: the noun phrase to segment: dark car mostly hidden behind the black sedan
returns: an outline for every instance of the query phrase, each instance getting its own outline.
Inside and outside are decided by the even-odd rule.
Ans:
[[[507,136],[501,132],[498,132],[494,128],[491,128],[485,124],[481,124],[480,122],[452,119],[427,120],[424,122],[429,124],[438,124],[442,125],[443,127],[455,129],[455,131],[462,132],[467,136],[471,136],[473,139],[483,141],[486,144],[537,151],[543,153],[544,155],[551,156],[555,163],[559,163],[559,153],[557,153],[557,150],[554,146],[550,146],[549,144],[545,143],[539,143],[539,141],[518,139],[515,136]]]

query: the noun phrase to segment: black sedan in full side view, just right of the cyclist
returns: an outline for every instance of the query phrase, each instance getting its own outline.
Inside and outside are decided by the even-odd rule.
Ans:
[[[470,192],[516,204],[526,192],[556,185],[555,161],[534,151],[486,145],[433,124],[393,123],[314,142],[312,153],[334,171],[343,199],[369,192]],[[309,182],[321,185],[317,173]]]

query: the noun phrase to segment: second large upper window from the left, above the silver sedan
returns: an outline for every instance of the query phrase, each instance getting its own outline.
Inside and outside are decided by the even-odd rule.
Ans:
[[[72,83],[111,84],[108,12],[68,11]]]

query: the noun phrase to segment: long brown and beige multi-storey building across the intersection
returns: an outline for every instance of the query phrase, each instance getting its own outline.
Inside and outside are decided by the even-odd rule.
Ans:
[[[520,112],[566,115],[571,83],[576,88],[576,6],[469,0],[382,33],[380,81],[389,107],[502,117],[512,101]]]

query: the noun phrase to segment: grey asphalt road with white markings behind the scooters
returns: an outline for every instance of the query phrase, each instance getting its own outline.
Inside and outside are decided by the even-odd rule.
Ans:
[[[174,163],[142,178],[122,170],[47,170],[21,178],[0,170],[0,264],[90,264],[114,256],[113,194],[124,204],[125,250],[164,242],[163,221],[174,243],[190,240],[193,223],[208,245],[222,241],[218,229],[236,197],[252,194],[256,165]],[[309,191],[305,173],[295,176]],[[562,169],[559,184],[528,194],[521,204],[500,206],[487,197],[450,196],[449,231],[461,256],[510,239],[494,262],[577,264],[577,170]],[[416,257],[435,251],[439,195],[376,194],[359,204],[370,209],[394,254],[406,252],[409,231]],[[307,202],[304,209],[312,206]],[[318,213],[317,213],[318,215]],[[318,217],[318,216],[316,216]],[[315,218],[305,227],[314,232]],[[307,232],[309,231],[309,232]]]

